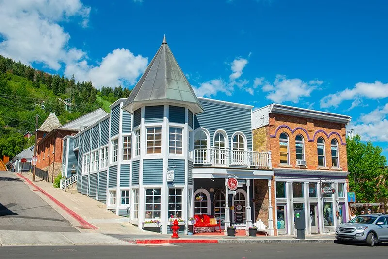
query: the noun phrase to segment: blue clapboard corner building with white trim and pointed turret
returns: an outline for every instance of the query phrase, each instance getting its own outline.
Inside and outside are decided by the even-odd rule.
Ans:
[[[110,108],[64,139],[63,165],[78,192],[139,228],[158,220],[162,233],[170,219],[194,214],[224,227],[251,224],[253,180],[273,176],[270,152],[252,151],[252,106],[196,97],[164,38],[128,99]]]

